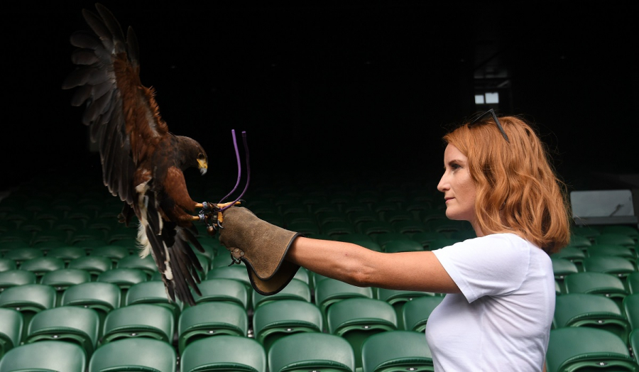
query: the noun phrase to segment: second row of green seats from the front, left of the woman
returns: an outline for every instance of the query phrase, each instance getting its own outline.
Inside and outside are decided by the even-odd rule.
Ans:
[[[371,297],[355,294],[346,297],[346,293],[341,293],[341,299],[330,297],[322,306],[281,297],[261,302],[250,318],[249,329],[248,312],[236,297],[209,298],[185,307],[182,312],[157,297],[155,300],[136,297],[131,301],[128,298],[126,305],[116,307],[116,300],[109,303],[109,298],[105,298],[107,285],[103,284],[70,288],[58,307],[51,306],[53,292],[43,293],[46,292],[43,285],[9,288],[0,295],[3,310],[0,334],[6,335],[4,344],[18,345],[41,339],[79,341],[81,334],[84,351],[90,355],[95,347],[117,339],[150,337],[172,344],[175,338],[181,354],[192,341],[229,334],[254,337],[268,351],[275,341],[290,334],[325,332],[347,339],[359,358],[361,342],[371,334],[404,329],[422,332],[430,312],[443,298],[420,295],[414,300],[405,298],[395,302],[393,305],[405,303],[400,307],[402,323],[409,325],[400,327],[393,305]],[[40,302],[35,301],[35,295],[24,298],[26,293],[36,290],[40,292]],[[89,291],[99,291],[102,295],[88,296]],[[112,292],[112,297],[116,296],[116,292]],[[43,303],[45,300],[49,303]]]

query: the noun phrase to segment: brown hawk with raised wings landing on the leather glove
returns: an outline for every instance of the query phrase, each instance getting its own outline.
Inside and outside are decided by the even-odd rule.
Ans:
[[[96,9],[82,11],[91,31],[71,35],[77,67],[62,89],[76,88],[71,103],[85,107],[82,123],[99,145],[104,185],[124,202],[120,221],[128,225],[133,213],[140,221],[140,255],[153,256],[170,300],[193,305],[202,266],[191,246],[204,248],[194,224],[202,213],[192,213],[206,204],[191,199],[182,171],[195,167],[204,175],[207,154],[197,141],[169,131],[153,88],[141,84],[133,29],[125,37],[111,11]]]

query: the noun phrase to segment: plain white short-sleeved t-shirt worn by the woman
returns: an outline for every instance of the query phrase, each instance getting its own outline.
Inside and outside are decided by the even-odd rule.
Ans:
[[[547,253],[515,234],[433,253],[461,290],[428,318],[435,371],[542,371],[555,313]]]

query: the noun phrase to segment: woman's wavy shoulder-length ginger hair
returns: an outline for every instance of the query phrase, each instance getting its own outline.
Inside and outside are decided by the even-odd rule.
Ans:
[[[570,240],[566,187],[532,127],[515,116],[498,119],[510,143],[491,117],[444,136],[468,158],[477,223],[484,234],[515,233],[555,253]]]

